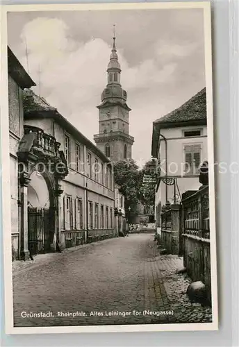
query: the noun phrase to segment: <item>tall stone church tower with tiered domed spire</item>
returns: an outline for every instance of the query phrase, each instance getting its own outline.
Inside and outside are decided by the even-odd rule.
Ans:
[[[129,111],[126,104],[127,93],[120,84],[121,69],[115,46],[108,63],[108,84],[101,94],[99,109],[99,133],[94,135],[97,147],[112,161],[131,159],[131,148],[134,142],[129,135]]]

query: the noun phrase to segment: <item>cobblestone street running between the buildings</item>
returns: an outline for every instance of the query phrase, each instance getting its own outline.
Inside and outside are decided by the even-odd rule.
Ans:
[[[49,255],[13,271],[15,326],[210,322],[211,309],[190,304],[182,267],[181,257],[160,256],[153,234]],[[30,312],[51,316],[22,317]]]

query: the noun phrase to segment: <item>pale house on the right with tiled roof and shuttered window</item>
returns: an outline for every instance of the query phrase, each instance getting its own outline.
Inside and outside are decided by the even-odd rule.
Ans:
[[[180,204],[182,194],[197,191],[199,166],[208,158],[206,89],[180,108],[154,121],[151,155],[157,160],[156,222],[161,209]]]

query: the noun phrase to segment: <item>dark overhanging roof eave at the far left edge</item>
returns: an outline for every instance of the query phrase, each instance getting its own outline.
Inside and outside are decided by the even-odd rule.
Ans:
[[[21,65],[17,57],[13,54],[8,46],[8,74],[14,79],[14,81],[21,87],[31,88],[35,85],[35,82],[28,75],[24,67]]]

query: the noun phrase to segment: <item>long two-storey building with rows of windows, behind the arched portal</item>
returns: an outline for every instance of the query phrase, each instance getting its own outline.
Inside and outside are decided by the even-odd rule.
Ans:
[[[25,133],[42,134],[43,146],[51,151],[55,142],[63,158],[63,165],[56,168],[57,191],[54,184],[44,185],[43,174],[34,171],[29,183],[28,204],[32,209],[57,210],[58,218],[49,244],[56,248],[69,248],[85,242],[114,236],[115,191],[113,167],[108,158],[83,136],[78,129],[58,113],[43,98],[31,90],[24,95]],[[47,137],[49,142],[47,142]],[[49,171],[48,165],[45,166]],[[62,172],[63,171],[63,172]],[[40,201],[40,196],[44,199]],[[58,195],[58,203],[51,204],[51,195]],[[31,211],[30,208],[30,211]]]

